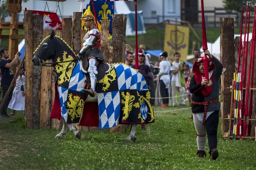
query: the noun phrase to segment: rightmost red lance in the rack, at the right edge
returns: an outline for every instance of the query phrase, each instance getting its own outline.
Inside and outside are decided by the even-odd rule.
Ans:
[[[256,8],[256,2],[254,4],[254,8]],[[256,27],[256,18],[255,18],[255,27]],[[254,41],[253,41],[253,59],[252,59],[252,75],[251,75],[251,88],[253,88],[253,82],[254,82],[254,60],[255,60],[255,44],[256,44],[256,28],[254,27]],[[250,90],[250,106],[249,106],[249,122],[248,122],[248,130],[247,135],[250,136],[251,133],[251,116],[253,115],[253,90]]]

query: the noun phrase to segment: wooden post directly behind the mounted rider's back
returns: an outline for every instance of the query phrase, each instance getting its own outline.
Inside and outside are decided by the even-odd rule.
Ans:
[[[110,29],[110,21],[103,20],[101,24],[101,51],[103,56],[105,57],[105,62],[108,62],[110,57],[110,45],[109,45],[109,29]]]

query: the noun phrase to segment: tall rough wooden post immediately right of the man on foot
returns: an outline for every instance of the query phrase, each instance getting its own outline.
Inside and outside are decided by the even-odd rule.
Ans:
[[[221,29],[221,62],[227,69],[221,77],[221,132],[224,136],[228,131],[229,122],[225,121],[227,115],[230,114],[231,91],[227,89],[233,81],[233,74],[236,72],[235,67],[235,47],[234,47],[234,19],[220,18]]]

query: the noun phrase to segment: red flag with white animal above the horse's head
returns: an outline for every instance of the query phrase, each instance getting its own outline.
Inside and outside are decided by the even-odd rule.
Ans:
[[[47,11],[33,11],[33,15],[42,15],[44,16],[44,29],[50,30],[61,30],[62,24],[61,20],[55,12],[47,12]]]

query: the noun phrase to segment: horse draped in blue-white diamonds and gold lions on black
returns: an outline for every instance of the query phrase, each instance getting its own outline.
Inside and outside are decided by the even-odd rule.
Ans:
[[[142,74],[128,65],[109,65],[102,62],[98,66],[95,88],[97,95],[90,97],[84,93],[84,88],[90,86],[87,68],[82,68],[82,61],[76,59],[76,54],[70,46],[55,36],[54,31],[41,42],[34,54],[34,65],[51,64],[55,68],[57,81],[50,117],[64,120],[61,133],[55,138],[62,138],[68,127],[80,139],[81,132],[76,130],[72,123],[80,121],[79,125],[95,126],[81,121],[95,122],[97,119],[99,129],[131,124],[131,132],[125,139],[125,142],[130,142],[136,140],[137,124],[154,122],[154,111],[146,81]],[[44,63],[48,59],[52,59],[53,63]],[[90,103],[93,101],[98,101],[98,108],[92,107]],[[92,113],[94,120],[90,116]]]

